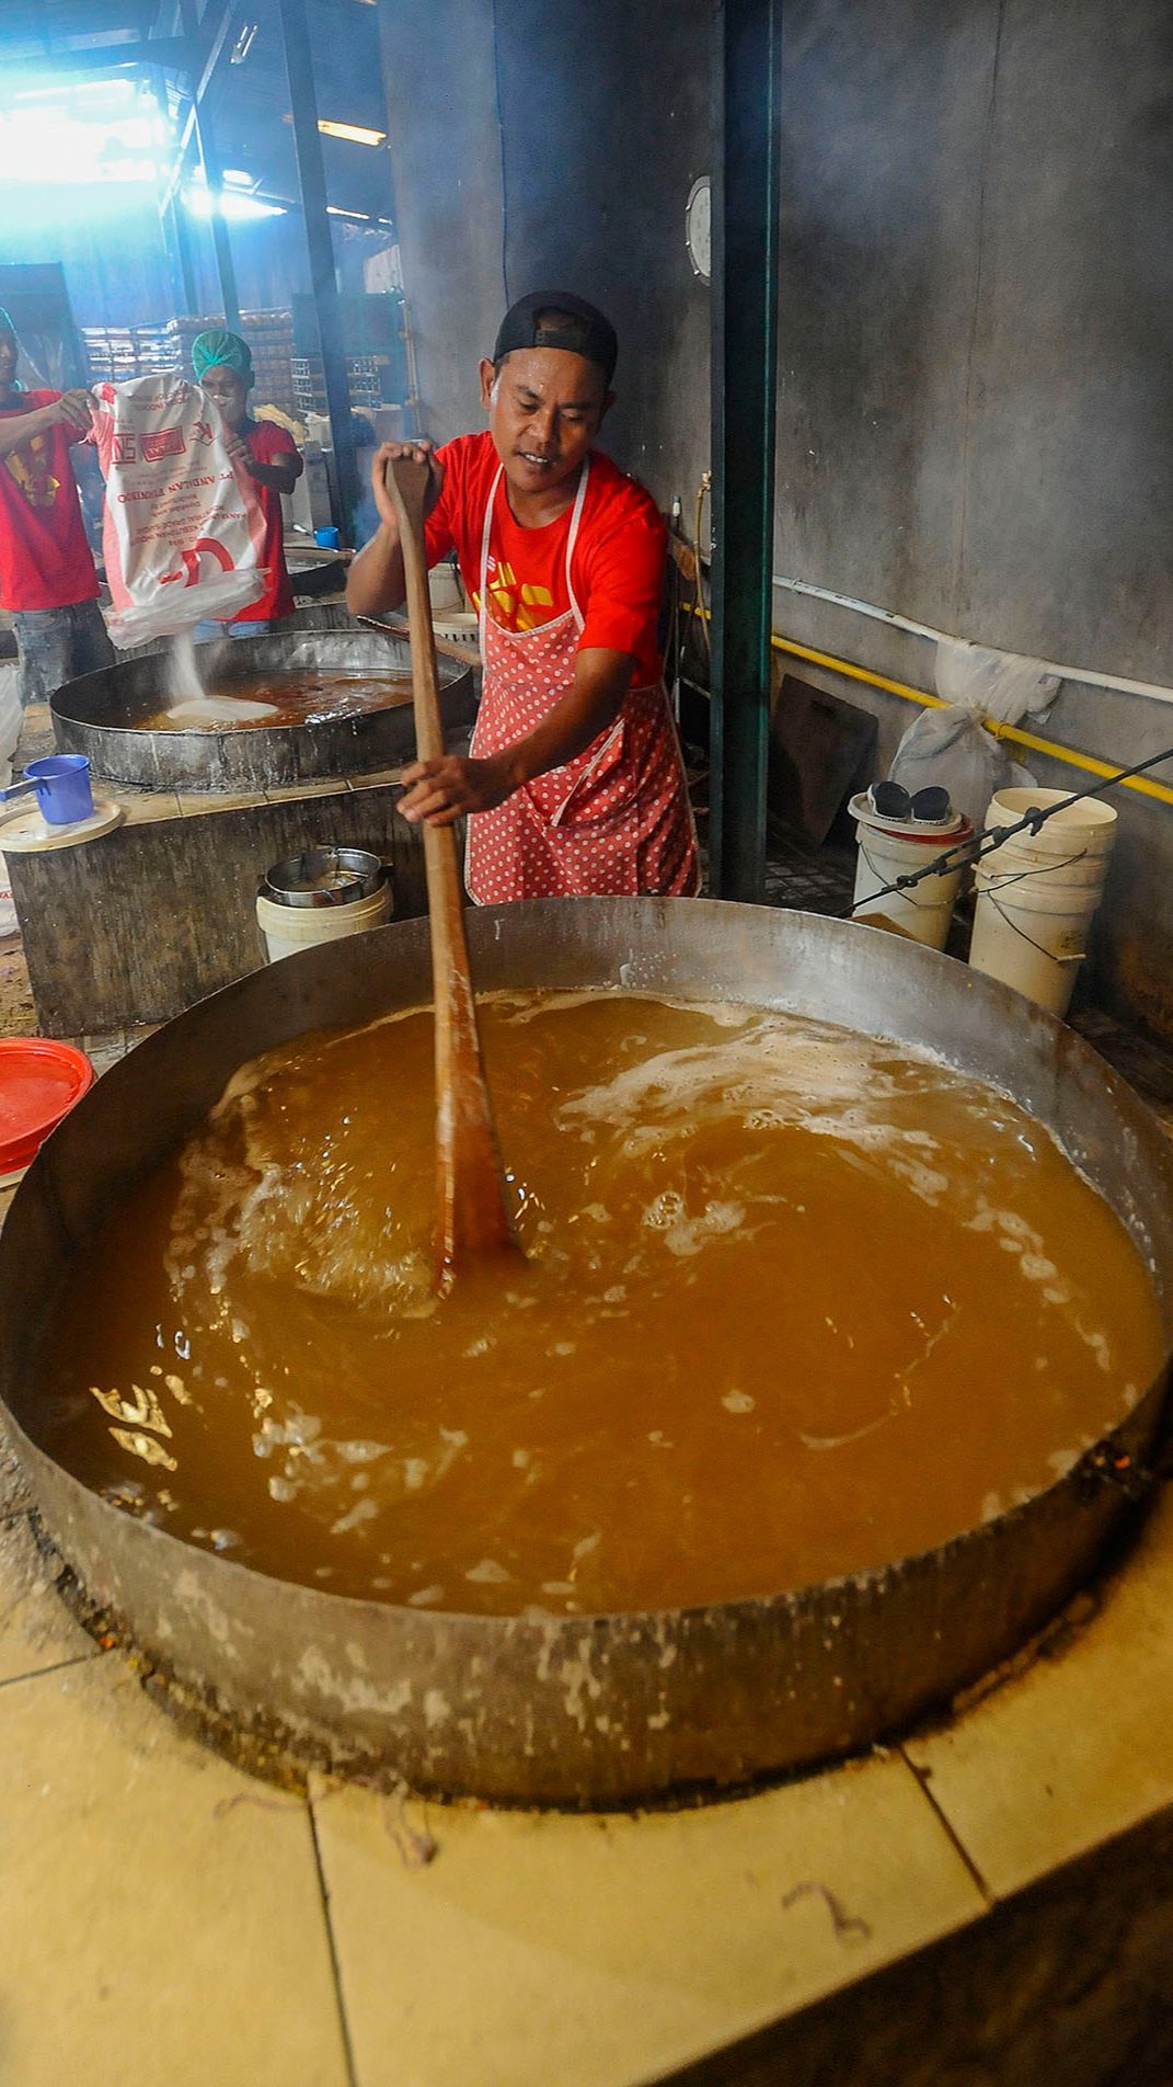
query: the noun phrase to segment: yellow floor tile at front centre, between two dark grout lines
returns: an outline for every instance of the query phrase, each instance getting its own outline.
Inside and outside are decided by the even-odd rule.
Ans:
[[[635,1820],[315,1814],[363,2087],[660,2079],[985,1910],[897,1755]]]

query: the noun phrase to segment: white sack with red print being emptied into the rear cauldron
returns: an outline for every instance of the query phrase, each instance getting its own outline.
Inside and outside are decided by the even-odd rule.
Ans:
[[[179,376],[94,386],[115,645],[228,620],[265,593],[265,520],[215,399]]]

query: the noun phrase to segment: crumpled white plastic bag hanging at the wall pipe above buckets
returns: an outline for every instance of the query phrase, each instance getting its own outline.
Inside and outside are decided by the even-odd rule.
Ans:
[[[1021,653],[939,639],[937,695],[948,707],[923,710],[908,726],[889,776],[910,795],[941,785],[956,810],[981,829],[996,791],[1029,789],[1035,781],[1010,758],[1004,741],[985,730],[983,720],[1021,724],[1025,716],[1039,716],[1058,695],[1058,674]]]

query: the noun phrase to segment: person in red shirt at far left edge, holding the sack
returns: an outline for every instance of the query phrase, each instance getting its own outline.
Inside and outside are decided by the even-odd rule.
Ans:
[[[0,607],[13,616],[21,703],[48,703],[115,659],[69,449],[90,436],[90,392],[23,390],[0,307]]]

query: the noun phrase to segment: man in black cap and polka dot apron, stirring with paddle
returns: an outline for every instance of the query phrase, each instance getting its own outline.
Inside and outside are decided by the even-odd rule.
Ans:
[[[484,689],[468,760],[405,774],[409,820],[465,812],[465,883],[482,904],[697,891],[697,843],[655,641],[666,530],[651,495],[593,447],[612,405],[616,334],[566,290],[538,290],[480,365],[486,434],[384,442],[378,534],[346,582],[357,616],[399,607],[403,551],[386,463],[430,465],[426,549],[453,549],[480,614]]]

